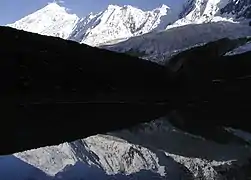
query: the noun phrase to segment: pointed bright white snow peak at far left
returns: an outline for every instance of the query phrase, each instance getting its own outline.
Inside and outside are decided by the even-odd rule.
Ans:
[[[50,3],[46,7],[7,26],[67,39],[78,20],[78,16],[69,14],[66,8],[59,6],[57,3]]]

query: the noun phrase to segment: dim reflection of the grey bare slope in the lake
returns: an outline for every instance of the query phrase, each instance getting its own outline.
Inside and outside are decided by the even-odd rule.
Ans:
[[[109,133],[109,135],[146,147],[154,153],[162,150],[175,156],[200,158],[209,162],[238,160],[240,154],[243,157],[250,157],[250,151],[246,149],[246,144],[242,139],[233,137],[223,131],[219,131],[224,135],[219,139],[213,138],[209,133],[194,133],[186,127],[179,128],[176,124],[170,123],[173,122],[173,118],[170,114],[147,123],[145,126],[140,125],[134,129],[116,131]],[[195,125],[194,128],[201,127]],[[213,127],[207,127],[207,129],[203,130],[207,132],[214,131]],[[220,135],[220,133],[217,135]]]

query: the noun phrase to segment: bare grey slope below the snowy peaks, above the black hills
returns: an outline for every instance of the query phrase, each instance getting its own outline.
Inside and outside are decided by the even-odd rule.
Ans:
[[[238,23],[189,24],[159,33],[133,37],[115,45],[104,46],[104,48],[118,52],[134,52],[144,59],[162,64],[171,55],[189,47],[224,37],[238,38],[249,35],[251,35],[251,28]]]

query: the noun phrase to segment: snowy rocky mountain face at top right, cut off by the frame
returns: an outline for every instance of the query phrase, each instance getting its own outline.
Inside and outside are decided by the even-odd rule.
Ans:
[[[250,0],[187,0],[179,19],[168,28],[191,23],[239,21],[250,18]]]

